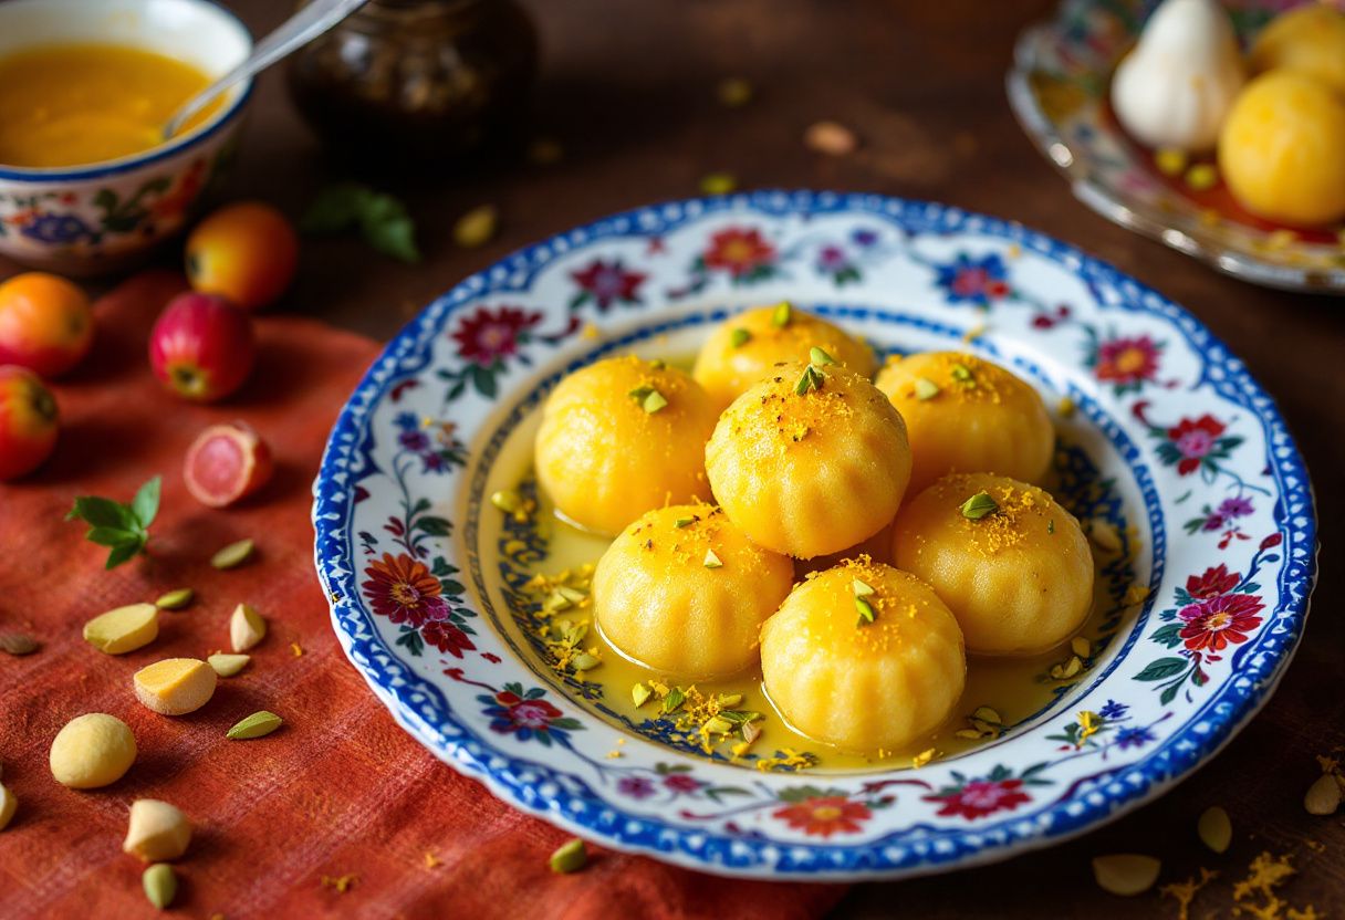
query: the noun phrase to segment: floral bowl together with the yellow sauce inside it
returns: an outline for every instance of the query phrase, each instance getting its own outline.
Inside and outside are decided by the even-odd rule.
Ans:
[[[252,86],[168,140],[163,125],[250,51],[208,0],[0,3],[0,254],[98,274],[179,231],[230,160]]]

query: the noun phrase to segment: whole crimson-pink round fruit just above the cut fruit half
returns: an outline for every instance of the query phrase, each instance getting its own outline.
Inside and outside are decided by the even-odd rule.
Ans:
[[[155,377],[194,402],[214,402],[237,390],[256,356],[247,313],[218,295],[178,295],[149,334]]]

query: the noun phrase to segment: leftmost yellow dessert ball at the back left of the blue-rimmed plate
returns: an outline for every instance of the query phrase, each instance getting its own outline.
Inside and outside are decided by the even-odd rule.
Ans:
[[[709,499],[705,441],[717,412],[701,385],[633,355],[582,367],[551,393],[537,479],[566,518],[615,534],[650,508]]]

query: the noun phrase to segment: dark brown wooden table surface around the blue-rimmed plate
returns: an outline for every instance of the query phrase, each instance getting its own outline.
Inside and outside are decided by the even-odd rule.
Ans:
[[[235,0],[256,34],[291,8]],[[1302,796],[1314,753],[1345,745],[1345,300],[1232,281],[1095,217],[1018,129],[1003,74],[1014,36],[1052,0],[564,0],[527,3],[543,43],[537,132],[562,161],[523,157],[445,168],[434,180],[385,187],[409,202],[425,261],[406,266],[356,241],[305,245],[288,308],[374,336],[393,335],[422,304],[468,273],[547,234],[612,211],[698,194],[718,171],[744,188],[810,187],[925,198],[1020,221],[1081,246],[1162,291],[1245,359],[1279,401],[1307,457],[1326,547],[1315,615],[1297,660],[1264,712],[1213,763],[1158,802],[1093,834],[997,866],[857,886],[842,917],[1177,916],[1171,900],[1122,900],[1093,884],[1089,858],[1112,851],[1163,859],[1163,880],[1220,872],[1192,917],[1228,916],[1232,882],[1262,850],[1301,868],[1284,889],[1297,907],[1345,909],[1345,814],[1314,818]],[[755,101],[725,109],[716,83],[741,75]],[[800,143],[831,118],[863,139],[831,159]],[[262,77],[233,191],[300,214],[327,180],[346,178],[299,122],[278,73]],[[453,246],[467,208],[499,207],[499,237]],[[1232,815],[1229,853],[1204,851],[1196,816]],[[1318,850],[1325,845],[1325,850]],[[722,884],[722,882],[716,882]],[[1334,908],[1334,911],[1333,911]]]

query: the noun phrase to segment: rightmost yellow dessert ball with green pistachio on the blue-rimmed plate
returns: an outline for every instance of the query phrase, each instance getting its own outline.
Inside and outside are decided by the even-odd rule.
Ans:
[[[1092,607],[1092,553],[1079,522],[1007,476],[954,473],[916,495],[897,518],[892,555],[933,586],[970,652],[1054,648]]]

